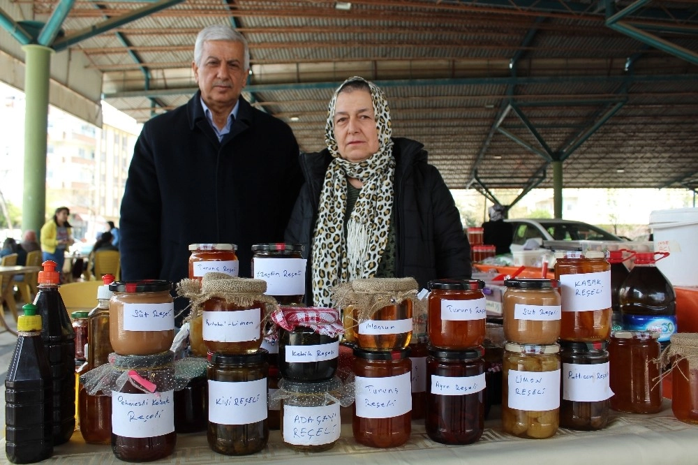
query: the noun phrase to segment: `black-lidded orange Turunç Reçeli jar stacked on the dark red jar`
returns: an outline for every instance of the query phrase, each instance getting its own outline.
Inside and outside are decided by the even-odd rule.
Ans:
[[[479,279],[429,281],[429,340],[458,350],[482,345],[487,310]]]

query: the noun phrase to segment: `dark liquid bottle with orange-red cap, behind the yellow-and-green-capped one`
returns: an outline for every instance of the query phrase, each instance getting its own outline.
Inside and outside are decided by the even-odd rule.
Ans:
[[[41,265],[34,304],[41,315],[41,340],[53,380],[53,445],[59,445],[75,431],[75,331],[58,292],[56,263],[47,260]]]

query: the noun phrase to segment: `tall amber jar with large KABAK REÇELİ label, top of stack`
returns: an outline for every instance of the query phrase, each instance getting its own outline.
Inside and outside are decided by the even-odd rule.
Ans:
[[[556,252],[560,281],[560,339],[601,341],[611,335],[611,264],[604,252]]]

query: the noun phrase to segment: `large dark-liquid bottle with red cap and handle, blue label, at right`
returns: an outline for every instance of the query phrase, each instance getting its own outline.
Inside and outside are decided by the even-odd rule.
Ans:
[[[655,266],[667,252],[637,253],[635,266],[625,279],[618,299],[621,304],[623,329],[659,331],[662,348],[676,332],[676,293],[669,280]]]

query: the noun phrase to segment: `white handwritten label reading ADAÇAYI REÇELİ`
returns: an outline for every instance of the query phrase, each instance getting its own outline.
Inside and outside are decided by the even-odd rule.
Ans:
[[[283,406],[283,442],[294,445],[322,445],[339,439],[339,404],[297,407]]]

